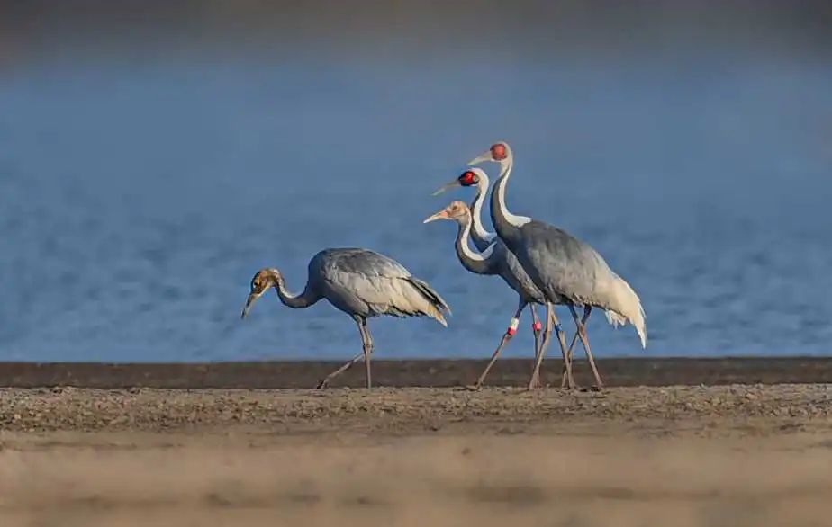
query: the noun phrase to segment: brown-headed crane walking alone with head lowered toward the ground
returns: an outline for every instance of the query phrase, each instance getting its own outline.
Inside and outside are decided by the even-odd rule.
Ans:
[[[251,279],[251,292],[242,318],[269,288],[275,288],[280,301],[289,308],[308,308],[320,299],[327,299],[356,321],[364,351],[321,380],[318,388],[325,388],[362,357],[366,366],[366,387],[372,386],[370,355],[373,338],[367,318],[379,315],[431,317],[442,326],[448,326],[444,315],[450,314],[450,308],[439,293],[427,282],[412,276],[401,263],[367,249],[324,249],[314,255],[309,262],[306,287],[297,295],[285,289],[281,272],[274,268],[261,269]]]

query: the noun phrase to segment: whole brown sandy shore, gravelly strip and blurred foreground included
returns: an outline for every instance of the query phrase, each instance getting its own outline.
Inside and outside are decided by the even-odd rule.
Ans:
[[[0,525],[827,525],[832,387],[0,389]]]

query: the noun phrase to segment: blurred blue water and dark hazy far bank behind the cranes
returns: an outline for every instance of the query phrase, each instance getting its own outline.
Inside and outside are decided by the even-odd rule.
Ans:
[[[830,27],[809,1],[0,3],[0,360],[347,357],[325,302],[240,321],[254,272],[301,290],[327,246],[454,308],[376,319],[378,358],[486,356],[515,295],[421,220],[496,140],[511,209],[641,296],[647,351],[596,315],[596,356],[829,353]]]

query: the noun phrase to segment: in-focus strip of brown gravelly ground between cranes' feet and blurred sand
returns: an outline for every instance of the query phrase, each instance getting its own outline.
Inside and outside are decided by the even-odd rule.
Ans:
[[[561,389],[0,389],[5,431],[143,431],[265,426],[419,433],[503,423],[557,431],[565,421],[626,424],[832,416],[832,386]]]

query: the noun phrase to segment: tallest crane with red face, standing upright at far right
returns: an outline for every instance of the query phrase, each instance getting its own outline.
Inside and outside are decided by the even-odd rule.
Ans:
[[[491,193],[491,218],[498,236],[511,253],[517,256],[523,269],[529,273],[547,299],[547,311],[553,317],[547,317],[547,331],[535,364],[529,387],[538,383],[540,363],[546,353],[551,335],[551,322],[555,322],[561,348],[565,349],[563,333],[557,327],[554,305],[566,299],[572,313],[583,349],[592,367],[592,374],[600,389],[603,384],[595,362],[592,359],[589,336],[586,333],[586,321],[592,308],[612,311],[636,327],[642,347],[647,347],[647,326],[645,312],[636,292],[610,266],[595,249],[564,230],[525,216],[512,214],[505,204],[506,186],[511,177],[513,155],[511,147],[504,142],[495,143],[482,155],[475,157],[468,165],[479,165],[493,161],[500,165],[500,177],[494,183]],[[575,306],[583,306],[583,318],[579,318]],[[613,318],[613,325],[621,322]],[[572,360],[568,353],[564,357],[567,369],[567,382],[574,387],[572,380]]]

